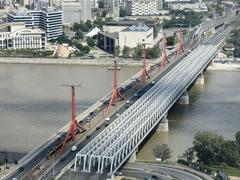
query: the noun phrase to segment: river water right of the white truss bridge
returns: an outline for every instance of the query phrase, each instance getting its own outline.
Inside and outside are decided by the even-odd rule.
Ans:
[[[198,131],[212,131],[234,139],[240,130],[240,72],[208,71],[204,85],[194,85],[189,105],[175,105],[169,112],[169,132],[155,132],[139,151],[139,160],[154,161],[152,146],[167,143],[176,161],[192,146]]]

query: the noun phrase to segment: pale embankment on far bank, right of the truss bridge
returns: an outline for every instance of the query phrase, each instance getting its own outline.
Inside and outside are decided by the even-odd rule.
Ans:
[[[210,71],[240,71],[240,64],[213,63],[207,68]]]

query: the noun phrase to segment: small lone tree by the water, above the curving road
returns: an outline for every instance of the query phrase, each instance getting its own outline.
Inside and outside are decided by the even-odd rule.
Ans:
[[[171,150],[167,144],[155,144],[152,149],[155,157],[160,158],[161,161],[171,158]]]

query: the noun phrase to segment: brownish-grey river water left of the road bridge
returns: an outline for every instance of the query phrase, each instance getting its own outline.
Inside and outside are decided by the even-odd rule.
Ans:
[[[119,83],[139,71],[123,67]],[[0,64],[0,151],[26,153],[71,119],[70,88],[76,89],[80,114],[112,90],[113,71],[106,67]]]

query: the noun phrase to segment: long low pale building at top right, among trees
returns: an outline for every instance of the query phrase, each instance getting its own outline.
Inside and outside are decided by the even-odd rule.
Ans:
[[[206,12],[208,11],[206,3],[176,3],[176,4],[169,4],[170,9],[173,10],[192,10],[195,12]]]

